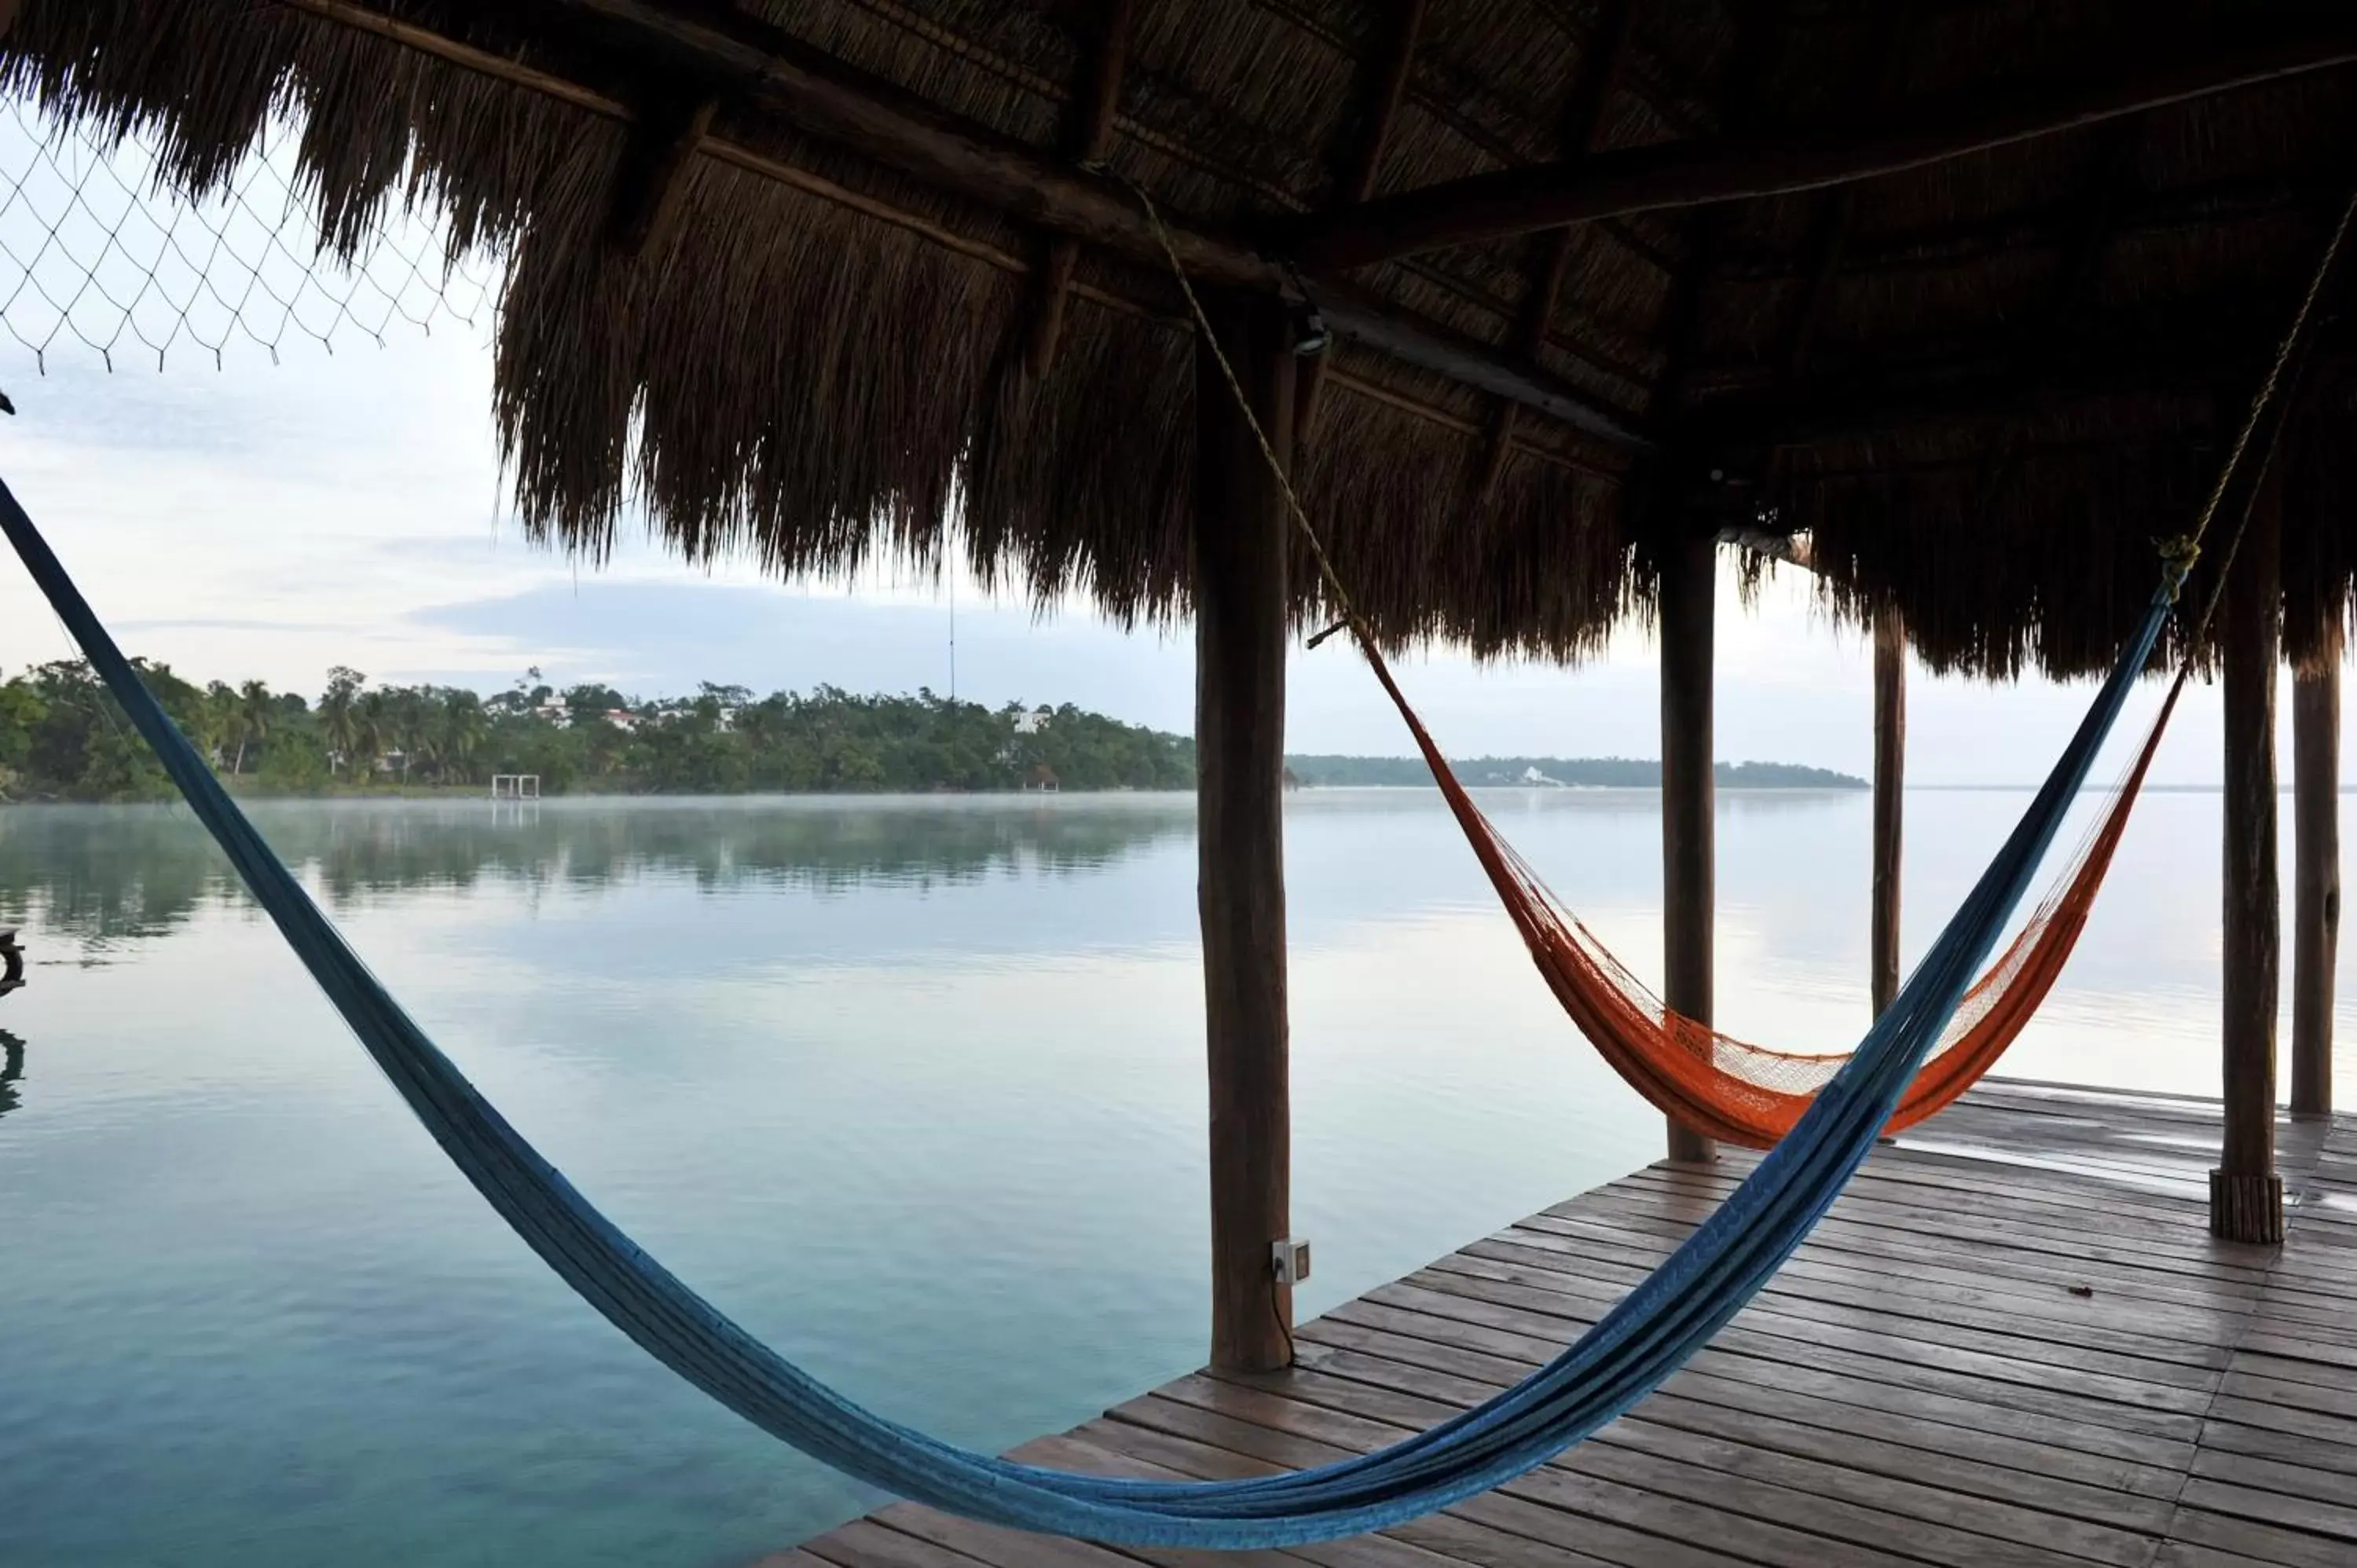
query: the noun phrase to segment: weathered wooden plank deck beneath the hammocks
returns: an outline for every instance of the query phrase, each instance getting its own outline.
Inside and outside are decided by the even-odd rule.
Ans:
[[[2204,1228],[2216,1103],[1987,1085],[1883,1148],[1711,1349],[1553,1464],[1386,1535],[1136,1554],[889,1507],[768,1568],[2357,1563],[2357,1118],[2282,1125],[2282,1250]],[[1242,1476],[1523,1377],[1730,1188],[1655,1165],[1016,1450]]]

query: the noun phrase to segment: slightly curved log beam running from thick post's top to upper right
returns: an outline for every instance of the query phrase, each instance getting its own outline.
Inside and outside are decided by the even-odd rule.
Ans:
[[[1560,224],[1820,191],[1900,174],[2348,64],[2357,64],[2357,26],[2350,24],[2246,50],[2192,47],[2138,73],[2053,87],[2013,104],[1949,108],[1879,130],[1671,141],[1492,170],[1372,200],[1334,217],[1301,219],[1287,238],[1303,266],[1367,266]]]

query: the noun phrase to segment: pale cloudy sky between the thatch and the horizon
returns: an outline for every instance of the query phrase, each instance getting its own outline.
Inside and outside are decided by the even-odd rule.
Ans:
[[[488,309],[448,311],[429,325],[389,314],[382,344],[346,321],[325,344],[288,328],[222,332],[203,290],[181,292],[186,257],[210,257],[214,285],[238,245],[295,299],[292,318],[330,323],[323,297],[295,295],[299,269],[266,245],[276,189],[247,184],[212,212],[212,252],[191,224],[141,226],[137,170],[97,170],[40,153],[38,127],[0,118],[0,476],[47,531],[118,639],[196,679],[316,693],[330,665],[377,681],[450,681],[483,691],[540,667],[556,686],[608,681],[632,696],[691,691],[695,681],[754,691],[957,691],[1004,705],[1077,703],[1136,724],[1193,724],[1188,627],[1122,632],[1082,604],[1037,615],[1025,599],[992,601],[971,580],[877,571],[853,582],[764,580],[747,561],[691,568],[625,528],[615,556],[585,564],[528,545],[507,507],[490,420]],[[71,149],[68,149],[71,151]],[[113,205],[108,205],[113,196]],[[283,200],[283,193],[280,193]],[[257,219],[255,210],[264,217]],[[139,250],[141,233],[160,236]],[[259,241],[257,241],[259,236]],[[405,236],[417,252],[417,233]],[[429,236],[424,236],[429,238]],[[292,250],[302,250],[292,241]],[[75,259],[75,250],[80,257]],[[403,252],[389,252],[396,269]],[[61,264],[66,257],[73,264]],[[375,264],[375,262],[372,262]],[[31,274],[42,288],[14,288]],[[177,269],[177,271],[174,271]],[[382,269],[379,269],[382,271]],[[68,292],[80,276],[111,292]],[[193,276],[193,274],[191,274]],[[158,278],[148,295],[139,285]],[[186,278],[181,278],[186,283]],[[398,292],[398,278],[396,290]],[[111,302],[130,302],[113,309]],[[252,292],[245,295],[255,299]],[[365,290],[361,295],[365,304]],[[408,302],[431,297],[415,288]],[[61,302],[42,318],[42,307]],[[412,314],[429,314],[415,309]],[[377,311],[363,323],[387,318]],[[59,318],[87,328],[108,354]],[[106,337],[134,318],[167,335],[177,321],[224,340],[158,356],[137,335]],[[45,344],[45,354],[24,342]],[[1725,552],[1732,556],[1732,552]],[[1782,568],[1751,604],[1723,559],[1718,594],[1718,729],[1725,762],[1798,762],[1867,773],[1871,766],[1871,653],[1810,597],[1805,573]],[[955,620],[955,679],[952,679]],[[14,564],[0,561],[0,670],[64,658],[64,630]],[[1402,684],[1440,745],[1457,757],[1657,757],[1655,648],[1631,627],[1598,660],[1475,665],[1433,651],[1400,660]],[[2062,747],[2086,684],[1978,684],[1909,674],[1909,783],[2027,783]],[[2190,693],[2157,764],[2159,783],[2220,776],[2213,689]],[[2126,747],[2159,691],[2131,707]],[[2289,684],[2282,745],[2289,755]],[[2357,726],[2350,726],[2357,743]],[[1343,641],[1289,667],[1287,747],[1294,752],[1407,755],[1412,747],[1379,689]]]

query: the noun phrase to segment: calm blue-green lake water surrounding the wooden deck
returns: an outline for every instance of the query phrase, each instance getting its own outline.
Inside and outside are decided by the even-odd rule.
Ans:
[[[2025,802],[1909,797],[1912,950]],[[1659,974],[1652,797],[1485,804]],[[1188,799],[255,816],[608,1214],[870,1405],[997,1448],[1200,1361]],[[1659,1153],[1435,795],[1294,797],[1287,870],[1306,1313]],[[2006,1070],[2213,1092],[2216,910],[2218,799],[2150,797]],[[186,813],[0,811],[0,1563],[738,1568],[877,1502],[568,1294]],[[1718,943],[1721,1026],[1855,1042],[1867,797],[1721,797]]]

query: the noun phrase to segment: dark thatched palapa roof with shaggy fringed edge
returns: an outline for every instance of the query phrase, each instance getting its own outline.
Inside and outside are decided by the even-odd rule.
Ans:
[[[1386,634],[1579,653],[1652,538],[1742,521],[2003,674],[2105,663],[2190,521],[2357,179],[2343,9],[21,0],[5,66],[191,191],[290,118],[330,236],[408,200],[504,255],[519,502],[589,552],[634,502],[787,573],[962,514],[985,573],[1181,611],[1134,184],[1334,330],[1296,479]],[[2300,653],[2357,573],[2341,337],[2279,450]]]

